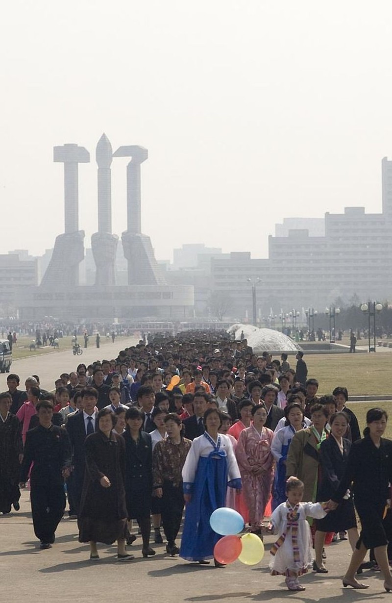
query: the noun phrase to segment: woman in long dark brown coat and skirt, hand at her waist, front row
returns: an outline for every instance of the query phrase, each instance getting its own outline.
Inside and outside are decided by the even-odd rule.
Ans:
[[[96,418],[98,431],[86,438],[86,470],[78,520],[79,541],[89,542],[90,559],[98,559],[97,542],[117,540],[118,560],[131,560],[125,551],[125,443],[114,434],[115,414],[102,409]]]

